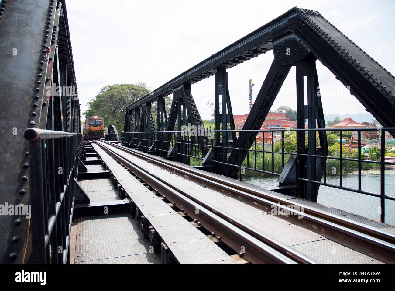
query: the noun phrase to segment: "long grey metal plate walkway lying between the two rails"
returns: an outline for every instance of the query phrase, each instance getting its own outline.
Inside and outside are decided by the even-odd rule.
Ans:
[[[111,150],[125,158],[128,158],[143,169],[150,169],[151,173],[160,176],[167,182],[171,181],[171,184],[175,184],[180,189],[191,193],[199,201],[213,205],[213,207],[218,209],[218,211],[231,214],[233,217],[245,223],[248,228],[256,230],[257,232],[265,234],[271,238],[275,238],[280,242],[286,243],[312,259],[319,259],[322,263],[347,262],[353,264],[359,263],[361,260],[365,262],[380,263],[380,261],[363,255],[348,247],[344,247],[340,243],[328,240],[315,232],[289,223],[284,219],[269,215],[262,212],[260,209],[246,205],[243,202],[226,196],[220,192],[200,186],[193,181],[189,181],[184,177],[173,174],[170,171],[142,160],[128,152],[115,147],[112,147]],[[325,242],[312,243],[316,241]],[[309,243],[308,247],[307,243]],[[297,247],[298,245],[305,245],[305,247]],[[329,249],[336,249],[337,251],[334,253],[322,253],[322,245],[325,245],[325,247],[328,247]],[[347,259],[345,260],[344,258]]]

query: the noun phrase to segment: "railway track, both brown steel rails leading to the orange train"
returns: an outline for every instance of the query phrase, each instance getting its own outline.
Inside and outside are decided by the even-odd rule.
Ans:
[[[289,207],[289,200],[253,188],[242,188],[237,181],[215,177],[192,167],[177,165],[162,158],[114,143],[95,142],[117,162],[152,185],[161,195],[166,196],[184,213],[198,219],[205,228],[215,230],[216,236],[220,237],[230,247],[239,250],[241,245],[245,246],[245,258],[250,262],[317,263],[316,260],[263,234],[231,213],[221,211],[218,207],[199,200],[193,191],[188,191],[175,185],[172,181],[150,172],[149,169],[128,158],[127,154],[132,154],[152,165],[182,176],[205,188],[226,194],[267,213],[275,209],[277,211],[276,216],[379,261],[395,262],[395,236],[389,232],[320,211],[320,209],[314,207],[298,205],[298,203],[294,203],[294,205],[299,206],[296,209],[303,209],[303,211],[295,210],[295,208]],[[123,155],[120,151],[126,154]],[[195,213],[196,209],[199,209],[198,214]],[[286,213],[286,215],[281,213]],[[303,218],[300,219],[301,217]]]

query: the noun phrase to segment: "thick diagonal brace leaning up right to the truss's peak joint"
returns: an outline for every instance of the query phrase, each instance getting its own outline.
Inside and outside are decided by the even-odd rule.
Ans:
[[[256,101],[251,108],[250,114],[248,114],[243,129],[259,130],[261,128],[291,67],[292,65],[280,65],[276,60],[273,60],[265,81],[256,97]],[[248,153],[248,148],[252,146],[254,141],[254,132],[246,133],[240,131],[239,137],[234,145],[235,150],[233,150],[229,156],[229,164],[242,164]],[[238,168],[226,165],[225,171],[227,176],[237,177]]]

